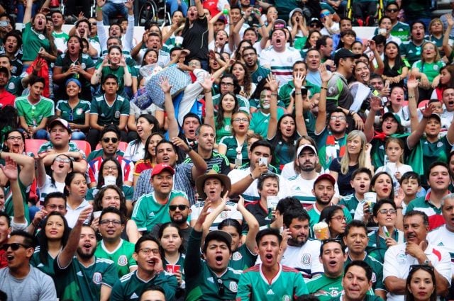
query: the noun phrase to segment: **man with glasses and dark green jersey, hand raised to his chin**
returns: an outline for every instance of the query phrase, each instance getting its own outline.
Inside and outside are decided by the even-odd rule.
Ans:
[[[111,301],[136,300],[146,288],[158,285],[165,291],[165,300],[174,300],[177,278],[162,271],[160,245],[157,239],[143,236],[135,243],[133,257],[138,269],[116,281]]]

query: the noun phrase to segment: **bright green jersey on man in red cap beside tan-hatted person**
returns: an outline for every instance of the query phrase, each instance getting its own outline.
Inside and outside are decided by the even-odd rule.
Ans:
[[[169,204],[177,196],[187,199],[186,193],[182,191],[171,191],[165,204],[157,202],[155,193],[148,193],[138,198],[132,215],[138,231],[150,232],[156,224],[170,222]]]

